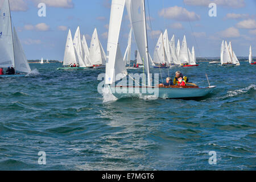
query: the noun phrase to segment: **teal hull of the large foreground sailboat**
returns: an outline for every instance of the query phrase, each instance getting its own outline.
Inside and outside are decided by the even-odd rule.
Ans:
[[[155,98],[200,98],[207,96],[216,86],[198,88],[195,86],[172,86],[168,88],[122,87],[109,86],[112,94],[117,98],[152,96]]]

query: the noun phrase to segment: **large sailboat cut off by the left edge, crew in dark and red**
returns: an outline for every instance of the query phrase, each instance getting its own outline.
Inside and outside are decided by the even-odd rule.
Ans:
[[[15,75],[0,75],[1,77],[23,77],[30,73],[30,65],[24,54],[22,44],[18,38],[15,27],[11,23],[9,0],[5,0],[0,11],[0,68],[15,68]]]

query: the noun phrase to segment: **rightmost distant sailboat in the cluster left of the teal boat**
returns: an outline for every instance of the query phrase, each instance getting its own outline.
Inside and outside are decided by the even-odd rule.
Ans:
[[[106,54],[98,39],[97,28],[94,29],[90,42],[90,62],[94,68],[105,68],[106,65]]]

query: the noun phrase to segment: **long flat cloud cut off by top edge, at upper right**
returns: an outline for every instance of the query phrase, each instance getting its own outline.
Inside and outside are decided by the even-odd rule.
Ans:
[[[209,6],[210,3],[224,7],[241,8],[245,7],[245,0],[183,0],[186,5]]]

